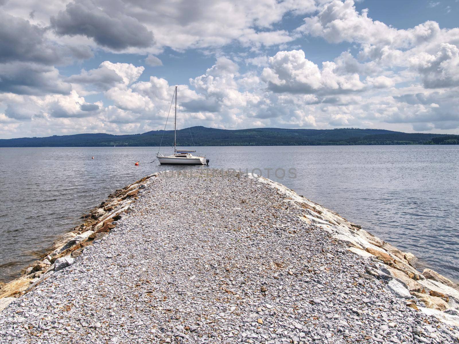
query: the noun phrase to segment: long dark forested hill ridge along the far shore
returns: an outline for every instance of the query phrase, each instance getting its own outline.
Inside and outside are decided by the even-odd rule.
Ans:
[[[162,138],[162,136],[164,137]],[[0,147],[105,147],[162,146],[174,144],[174,131],[148,131],[135,135],[77,134],[1,139]],[[381,129],[280,129],[224,130],[194,126],[177,131],[177,145],[185,146],[320,146],[458,144],[459,135],[404,133]]]

